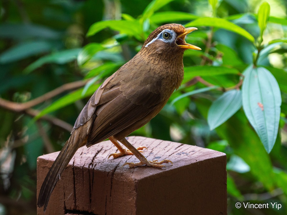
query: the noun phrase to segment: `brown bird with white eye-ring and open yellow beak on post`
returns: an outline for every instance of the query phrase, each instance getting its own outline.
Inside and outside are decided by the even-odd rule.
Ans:
[[[201,48],[187,44],[185,36],[197,28],[180,24],[166,24],[156,28],[141,50],[118,71],[108,77],[92,95],[79,114],[70,138],[65,143],[47,174],[38,196],[38,207],[46,210],[51,193],[78,148],[90,147],[109,138],[118,148],[114,158],[135,155],[139,163],[125,163],[129,167],[147,165],[164,167],[170,160],[148,161],[126,140],[131,132],[141,128],[156,116],[183,80],[183,52]],[[128,148],[119,144],[121,142]]]

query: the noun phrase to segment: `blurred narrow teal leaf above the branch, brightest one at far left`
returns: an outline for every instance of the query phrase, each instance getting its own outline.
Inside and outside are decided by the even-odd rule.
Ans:
[[[65,64],[67,62],[71,62],[77,58],[81,50],[82,48],[68,49],[41,57],[26,67],[24,69],[24,73],[30,73],[46,63]]]

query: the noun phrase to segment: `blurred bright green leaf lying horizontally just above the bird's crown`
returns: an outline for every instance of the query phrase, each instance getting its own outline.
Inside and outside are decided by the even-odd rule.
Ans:
[[[164,11],[153,14],[150,21],[156,24],[197,19],[197,15],[179,11]]]

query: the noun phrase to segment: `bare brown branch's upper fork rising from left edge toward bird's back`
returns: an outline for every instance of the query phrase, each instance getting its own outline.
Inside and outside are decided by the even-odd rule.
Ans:
[[[48,93],[45,93],[44,95],[39,96],[38,98],[32,99],[24,103],[17,103],[17,102],[8,101],[8,100],[0,98],[0,107],[3,107],[7,110],[11,110],[14,112],[22,112],[24,110],[27,110],[30,107],[34,107],[35,105],[38,105],[48,99],[51,99],[55,97],[56,95],[59,95],[65,91],[83,87],[88,81],[90,81],[90,79],[82,80],[82,81],[74,81],[71,83],[64,84]]]

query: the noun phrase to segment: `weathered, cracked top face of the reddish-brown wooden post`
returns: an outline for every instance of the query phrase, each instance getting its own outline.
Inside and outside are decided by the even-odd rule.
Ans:
[[[173,165],[170,163],[164,164],[166,168],[162,169],[147,166],[129,168],[128,165],[121,167],[125,162],[139,162],[139,160],[132,155],[119,157],[117,159],[110,157],[108,159],[108,156],[111,153],[115,153],[117,151],[115,145],[109,140],[92,145],[89,148],[86,146],[79,148],[69,162],[69,165],[81,168],[122,172],[132,176],[133,179],[139,180],[144,177],[149,177],[150,175],[159,174],[184,165],[189,165],[190,163],[197,163],[206,159],[226,156],[222,152],[208,148],[201,148],[198,146],[141,136],[129,136],[127,137],[127,140],[135,147],[146,146],[148,150],[144,150],[143,155],[148,160],[152,161],[158,159],[158,161],[161,161],[164,159],[169,159],[173,162]],[[38,161],[42,159],[46,162],[53,162],[58,154],[59,152],[54,152],[51,154],[42,155],[38,157]]]

